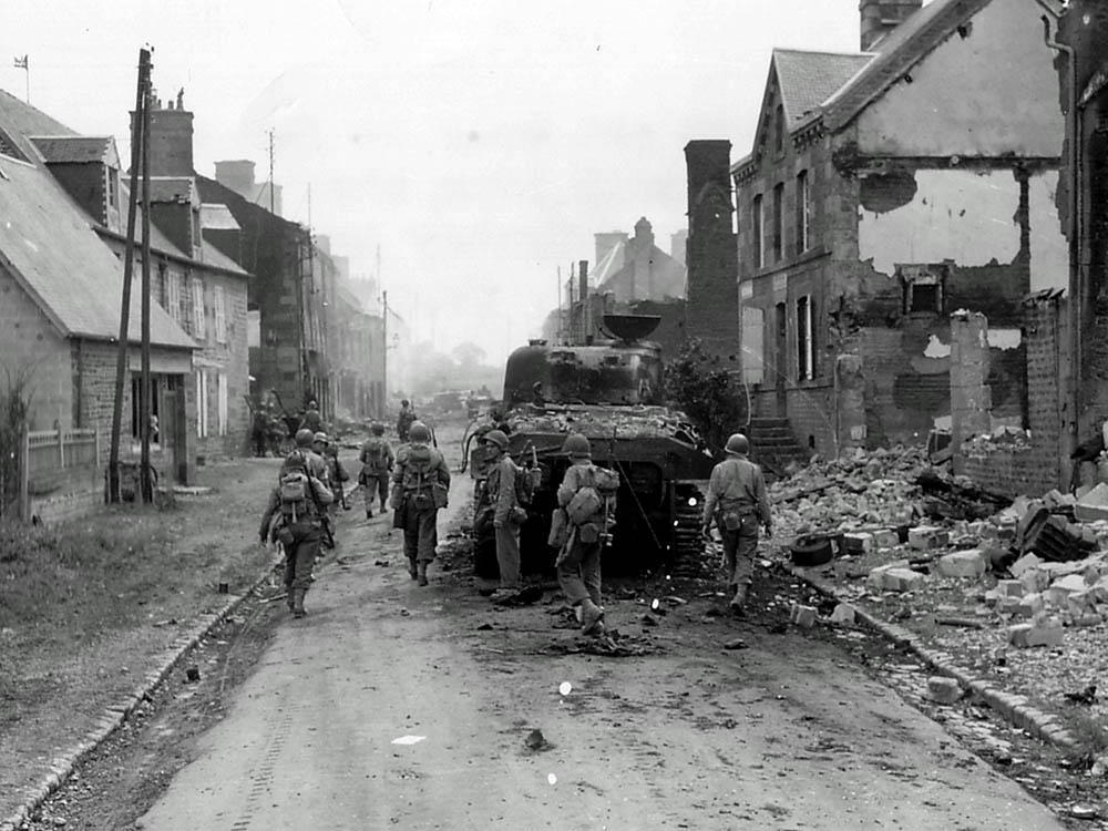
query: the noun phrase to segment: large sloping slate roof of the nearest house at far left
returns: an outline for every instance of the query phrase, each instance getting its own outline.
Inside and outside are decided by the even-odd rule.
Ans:
[[[49,116],[0,91],[0,130],[25,146],[35,134],[70,133]],[[0,156],[0,267],[65,336],[119,337],[123,266],[91,220],[41,163]],[[132,295],[129,339],[142,337],[140,291]],[[157,304],[151,305],[151,340],[157,346],[196,345]]]

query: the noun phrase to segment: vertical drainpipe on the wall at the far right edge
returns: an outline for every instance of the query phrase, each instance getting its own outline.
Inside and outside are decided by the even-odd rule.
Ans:
[[[1085,281],[1081,269],[1081,135],[1077,112],[1077,52],[1073,47],[1058,43],[1050,37],[1050,19],[1043,16],[1046,45],[1063,52],[1069,64],[1069,90],[1066,95],[1066,132],[1069,135],[1069,307],[1070,339],[1073,341],[1074,380],[1071,389],[1073,435],[1070,449],[1076,448],[1080,430],[1081,402],[1081,320],[1084,319]]]

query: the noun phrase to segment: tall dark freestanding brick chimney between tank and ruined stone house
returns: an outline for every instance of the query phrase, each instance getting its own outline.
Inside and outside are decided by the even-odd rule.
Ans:
[[[732,228],[731,143],[696,140],[685,145],[688,167],[688,243],[685,332],[710,355],[740,368],[739,265]]]

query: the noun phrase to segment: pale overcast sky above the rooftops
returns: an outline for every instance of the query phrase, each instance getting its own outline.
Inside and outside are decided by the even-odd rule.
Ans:
[[[770,50],[858,50],[858,0],[2,0],[0,86],[127,158],[138,49],[198,173],[249,158],[418,338],[499,360],[593,234],[685,227],[685,144],[750,150]],[[309,199],[310,192],[310,199]]]

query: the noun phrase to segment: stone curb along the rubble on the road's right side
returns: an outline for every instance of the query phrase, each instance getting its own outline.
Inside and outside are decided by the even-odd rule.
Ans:
[[[962,687],[964,694],[976,696],[989,709],[998,712],[1014,727],[1026,730],[1036,738],[1063,749],[1070,749],[1077,746],[1074,735],[1061,725],[1056,716],[1043,712],[1038,708],[1033,707],[1028,704],[1026,696],[1006,693],[994,686],[992,681],[983,678],[974,678],[968,670],[955,665],[954,659],[946,653],[927,648],[920,635],[905,629],[903,626],[885,623],[864,609],[859,608],[850,598],[841,595],[830,583],[821,577],[808,574],[807,568],[793,566],[790,568],[790,572],[794,577],[807,583],[820,594],[849,605],[854,609],[855,617],[862,624],[876,630],[896,646],[909,649],[938,675],[954,678],[958,683],[958,686]],[[3,831],[3,829],[0,829],[0,831]]]

